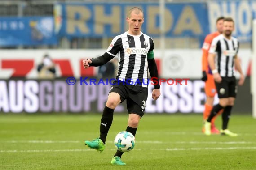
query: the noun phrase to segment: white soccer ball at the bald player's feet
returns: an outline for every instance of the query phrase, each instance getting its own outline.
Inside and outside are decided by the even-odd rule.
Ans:
[[[119,132],[115,136],[114,144],[120,152],[128,152],[134,148],[135,137],[127,131]]]

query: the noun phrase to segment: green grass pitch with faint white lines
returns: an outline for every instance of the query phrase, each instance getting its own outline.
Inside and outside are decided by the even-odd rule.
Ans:
[[[18,170],[255,170],[256,119],[233,115],[238,137],[205,136],[201,115],[145,115],[126,166],[111,165],[114,139],[128,115],[114,115],[106,149],[88,149],[99,136],[97,115],[0,115],[0,169]],[[221,117],[216,126],[220,127]]]

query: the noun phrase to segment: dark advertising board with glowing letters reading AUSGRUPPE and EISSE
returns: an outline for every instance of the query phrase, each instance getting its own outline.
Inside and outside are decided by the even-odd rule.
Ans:
[[[161,97],[148,95],[146,113],[202,113],[203,81],[161,85]],[[111,85],[68,85],[66,80],[0,80],[0,112],[102,112]],[[149,94],[154,85],[149,85]],[[125,104],[116,112],[126,112]]]

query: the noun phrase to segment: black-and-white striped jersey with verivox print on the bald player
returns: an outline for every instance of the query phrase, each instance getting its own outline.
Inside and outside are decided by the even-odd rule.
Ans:
[[[110,55],[118,55],[119,69],[116,79],[147,87],[147,54],[153,49],[154,42],[146,34],[131,35],[125,32],[116,36],[106,51]]]

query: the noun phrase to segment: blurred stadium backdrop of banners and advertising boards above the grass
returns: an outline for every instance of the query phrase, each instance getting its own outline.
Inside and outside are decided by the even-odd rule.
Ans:
[[[112,38],[127,30],[125,14],[133,6],[144,10],[142,31],[154,39],[160,77],[190,79],[188,85],[163,83],[157,102],[149,95],[147,113],[202,114],[200,48],[204,37],[215,31],[220,15],[234,18],[234,36],[241,42],[239,57],[247,75],[245,85],[238,88],[234,112],[252,113],[253,0],[167,0],[164,23],[158,0],[0,1],[0,113],[101,113],[110,85],[79,85],[80,77],[97,77],[98,72],[84,70],[81,60],[103,54]],[[57,77],[40,80],[36,68],[46,53],[56,64]],[[66,83],[71,76],[76,85]],[[126,112],[125,105],[116,111]]]

